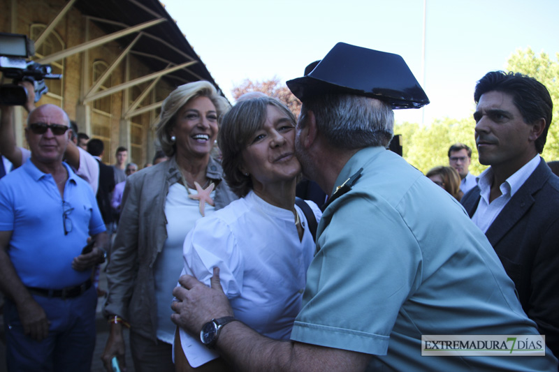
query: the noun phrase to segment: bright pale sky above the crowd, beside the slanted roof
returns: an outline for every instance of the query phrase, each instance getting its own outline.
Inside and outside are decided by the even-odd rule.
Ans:
[[[559,0],[162,0],[215,82],[300,77],[338,42],[400,54],[430,99],[397,122],[471,117],[474,87],[518,49],[556,61]]]

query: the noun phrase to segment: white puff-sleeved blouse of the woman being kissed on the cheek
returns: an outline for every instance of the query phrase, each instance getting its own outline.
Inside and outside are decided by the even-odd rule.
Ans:
[[[306,202],[319,221],[317,204]],[[182,274],[210,285],[218,266],[235,318],[264,336],[289,339],[315,250],[305,215],[297,206],[296,211],[305,228],[302,241],[291,211],[250,191],[196,223],[184,241]],[[219,357],[183,329],[180,342],[194,368]]]

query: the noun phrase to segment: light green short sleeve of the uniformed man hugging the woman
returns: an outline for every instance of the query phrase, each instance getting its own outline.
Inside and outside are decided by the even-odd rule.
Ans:
[[[347,195],[326,212],[331,221],[318,237],[291,339],[385,355],[400,307],[419,283],[419,245],[398,211],[370,195]]]

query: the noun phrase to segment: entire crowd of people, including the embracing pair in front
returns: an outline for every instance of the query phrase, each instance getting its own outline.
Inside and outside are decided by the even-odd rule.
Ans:
[[[558,370],[559,166],[534,78],[477,82],[478,176],[463,143],[425,175],[387,151],[393,110],[429,101],[400,56],[354,45],[287,82],[298,118],[177,87],[141,170],[23,84],[29,149],[0,106],[8,371],[90,370],[98,298],[107,371],[126,352],[138,372]],[[540,334],[539,356],[421,356],[424,335]]]

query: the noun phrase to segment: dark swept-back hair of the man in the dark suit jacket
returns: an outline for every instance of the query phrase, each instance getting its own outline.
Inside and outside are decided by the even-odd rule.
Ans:
[[[553,101],[545,85],[521,73],[491,71],[477,82],[474,92],[475,103],[479,103],[481,95],[488,91],[510,94],[512,102],[521,112],[526,124],[534,124],[540,118],[545,119],[544,131],[535,141],[536,150],[542,154],[553,117]]]

